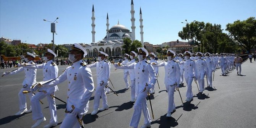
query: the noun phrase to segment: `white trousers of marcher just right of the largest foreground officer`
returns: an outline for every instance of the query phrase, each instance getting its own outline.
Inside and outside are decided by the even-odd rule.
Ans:
[[[105,84],[100,86],[100,84],[98,84],[95,94],[94,94],[94,105],[93,108],[94,109],[98,109],[99,105],[100,105],[100,96],[102,98],[102,106],[103,107],[108,107],[109,105],[107,104],[107,96],[105,94]]]

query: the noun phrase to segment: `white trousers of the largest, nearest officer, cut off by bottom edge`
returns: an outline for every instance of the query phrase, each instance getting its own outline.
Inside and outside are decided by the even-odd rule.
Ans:
[[[78,115],[82,119],[83,115]],[[66,113],[60,128],[81,128],[78,119],[71,113]]]

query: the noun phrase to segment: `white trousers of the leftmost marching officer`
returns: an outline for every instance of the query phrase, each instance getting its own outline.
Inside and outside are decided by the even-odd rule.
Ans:
[[[34,96],[34,94],[32,92],[29,92],[28,94],[22,93],[23,91],[29,91],[29,90],[30,90],[30,86],[28,86],[26,88],[23,87],[19,91],[19,110],[26,109],[26,107],[27,107],[26,95],[29,95],[30,101],[31,101],[32,97]]]

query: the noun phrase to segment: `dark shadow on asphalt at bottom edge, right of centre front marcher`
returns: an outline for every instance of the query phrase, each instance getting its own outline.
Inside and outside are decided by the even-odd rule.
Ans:
[[[158,128],[170,128],[170,127],[175,127],[175,126],[178,125],[178,122],[176,122],[175,118],[173,118],[173,117],[166,117],[166,114],[162,115],[157,120],[151,122],[151,125],[153,125],[155,123],[159,124]]]

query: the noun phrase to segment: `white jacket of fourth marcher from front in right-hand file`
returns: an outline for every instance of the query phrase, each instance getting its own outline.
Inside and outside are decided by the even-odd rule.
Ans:
[[[208,73],[207,63],[203,59],[198,59],[195,61],[197,75],[205,75]]]

